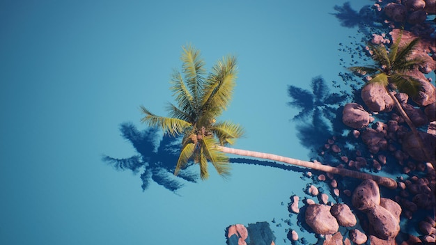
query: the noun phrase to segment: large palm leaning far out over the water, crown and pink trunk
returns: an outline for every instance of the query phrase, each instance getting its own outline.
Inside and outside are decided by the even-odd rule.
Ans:
[[[193,160],[199,164],[200,176],[203,180],[209,176],[208,161],[215,167],[219,175],[226,177],[230,174],[230,168],[225,153],[229,153],[272,159],[361,179],[371,178],[379,184],[396,188],[396,181],[387,177],[333,168],[263,152],[226,147],[226,145],[235,143],[235,139],[244,134],[244,130],[238,124],[230,121],[217,122],[217,118],[231,101],[238,73],[236,58],[225,56],[212,67],[212,72],[206,75],[205,63],[200,57],[200,52],[191,45],[182,49],[183,74],[176,71],[171,79],[173,85],[171,90],[176,97],[178,106],[169,104],[169,117],[157,116],[141,106],[141,111],[146,115],[141,119],[142,122],[146,122],[151,127],[160,127],[164,133],[173,136],[182,135],[182,148],[174,171],[175,175],[189,161]]]

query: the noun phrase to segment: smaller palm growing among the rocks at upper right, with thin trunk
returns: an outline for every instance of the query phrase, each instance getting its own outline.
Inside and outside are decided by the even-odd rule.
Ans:
[[[412,130],[416,140],[423,150],[423,154],[426,156],[426,159],[431,161],[432,157],[429,157],[429,152],[425,150],[426,148],[423,145],[418,130],[395,96],[396,90],[401,93],[406,93],[410,97],[413,97],[419,92],[421,84],[418,79],[410,74],[412,71],[417,70],[419,65],[423,65],[425,62],[422,58],[410,58],[419,42],[419,39],[416,38],[403,47],[400,47],[401,36],[402,33],[400,33],[396,42],[391,45],[389,52],[384,45],[372,45],[369,43],[368,46],[372,52],[372,58],[375,61],[375,65],[354,66],[349,69],[361,75],[368,74],[371,76],[368,83],[382,84],[386,92],[394,101],[396,109],[401,116],[403,116],[405,122]]]

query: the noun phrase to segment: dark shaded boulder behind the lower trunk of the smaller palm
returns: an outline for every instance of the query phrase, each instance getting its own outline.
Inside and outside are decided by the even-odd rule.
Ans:
[[[421,148],[413,132],[408,132],[403,138],[403,150],[417,161],[434,161],[435,136],[422,131],[419,131],[419,135],[421,136],[424,148]],[[426,150],[426,154],[424,154],[423,150]]]

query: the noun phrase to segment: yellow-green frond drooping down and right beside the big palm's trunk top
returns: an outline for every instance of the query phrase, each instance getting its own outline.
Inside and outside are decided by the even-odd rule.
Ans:
[[[228,157],[217,148],[217,141],[214,138],[205,137],[201,144],[201,149],[205,157],[210,160],[221,177],[228,177],[230,175]]]

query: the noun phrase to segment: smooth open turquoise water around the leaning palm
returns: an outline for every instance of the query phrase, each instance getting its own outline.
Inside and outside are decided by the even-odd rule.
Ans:
[[[0,244],[218,245],[226,227],[257,221],[285,244],[286,229],[299,229],[287,204],[303,196],[306,170],[232,164],[229,180],[211,168],[209,180],[181,180],[176,193],[153,181],[143,191],[141,172],[116,171],[102,156],[138,154],[120,124],[145,130],[141,104],[164,115],[170,74],[192,43],[209,68],[238,56],[222,118],[247,132],[235,147],[309,160],[287,89],[341,81],[349,54],[339,43],[364,35],[332,15],[344,2],[1,1]]]

